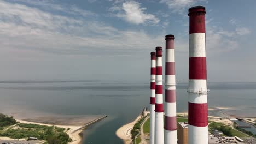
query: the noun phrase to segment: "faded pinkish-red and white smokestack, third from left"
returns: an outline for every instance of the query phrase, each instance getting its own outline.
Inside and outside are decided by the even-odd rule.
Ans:
[[[165,52],[165,143],[177,143],[174,35],[166,35]]]

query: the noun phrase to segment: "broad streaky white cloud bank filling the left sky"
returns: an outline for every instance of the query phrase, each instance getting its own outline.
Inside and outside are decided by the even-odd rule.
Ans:
[[[1,47],[9,52],[129,55],[131,50],[148,49],[163,39],[144,31],[120,31],[101,21],[53,14],[5,1],[0,1],[0,17]]]

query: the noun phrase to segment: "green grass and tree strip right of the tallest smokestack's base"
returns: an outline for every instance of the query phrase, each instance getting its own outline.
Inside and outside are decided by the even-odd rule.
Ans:
[[[232,129],[231,127],[226,126],[223,123],[212,122],[211,124],[209,124],[208,129],[210,133],[212,133],[213,129],[216,129],[222,131],[225,136],[248,137],[247,135],[241,133],[240,131]]]

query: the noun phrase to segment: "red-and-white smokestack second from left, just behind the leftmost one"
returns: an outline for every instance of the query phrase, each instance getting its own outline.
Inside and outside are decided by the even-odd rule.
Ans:
[[[162,97],[162,47],[156,47],[155,144],[164,143],[164,107]]]

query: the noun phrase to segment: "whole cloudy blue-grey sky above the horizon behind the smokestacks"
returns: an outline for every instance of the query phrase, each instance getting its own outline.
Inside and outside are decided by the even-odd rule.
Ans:
[[[187,82],[196,5],[207,10],[208,81],[256,82],[253,0],[1,0],[0,81],[149,82],[150,52],[165,55],[173,34],[176,79]]]

